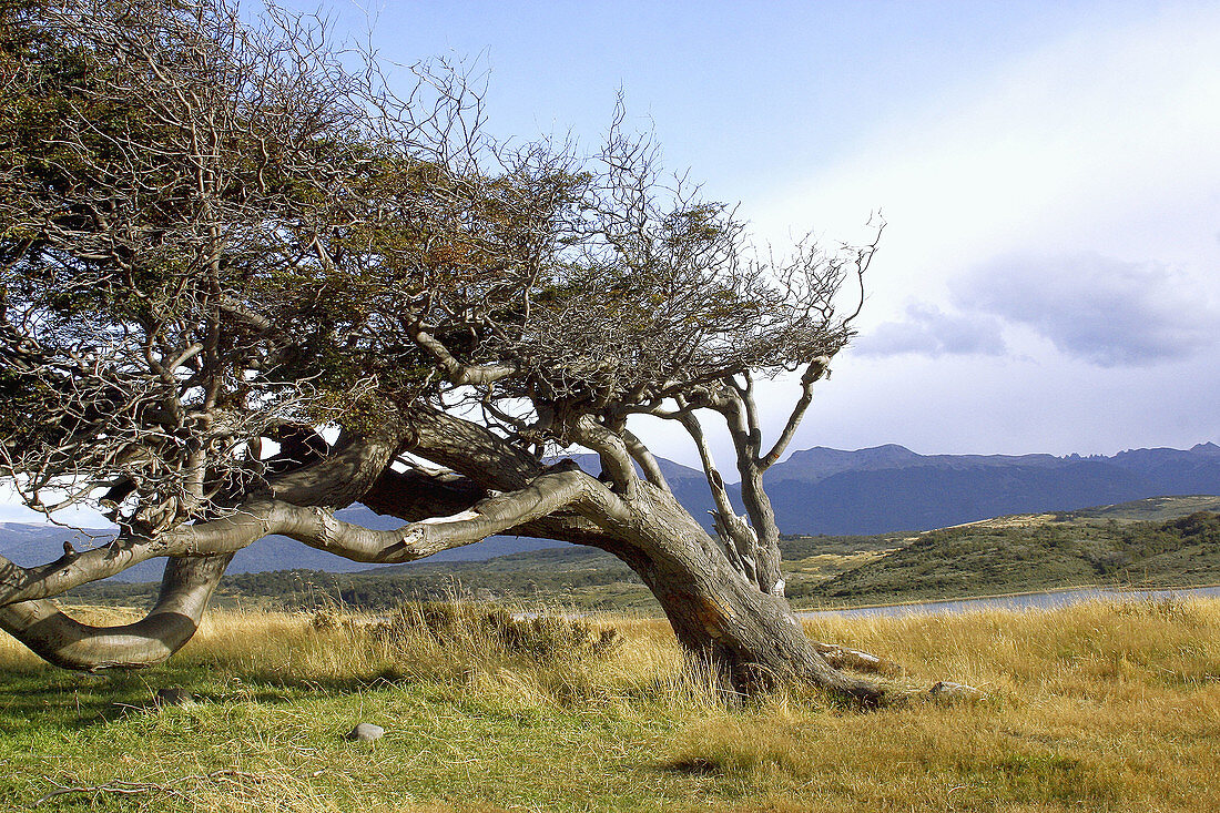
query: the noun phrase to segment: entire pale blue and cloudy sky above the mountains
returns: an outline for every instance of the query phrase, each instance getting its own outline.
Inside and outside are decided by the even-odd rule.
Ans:
[[[776,250],[860,240],[880,211],[860,333],[792,449],[1220,442],[1215,2],[284,5],[404,82],[460,62],[499,138],[594,150],[621,93]],[[773,433],[795,387],[760,393]]]

